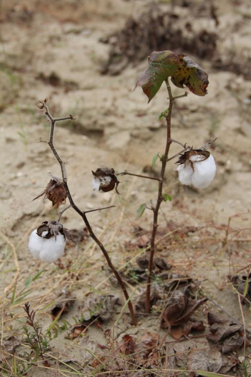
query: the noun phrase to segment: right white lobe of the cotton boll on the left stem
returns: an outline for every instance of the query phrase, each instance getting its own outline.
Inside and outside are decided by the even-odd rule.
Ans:
[[[55,237],[49,239],[44,238],[42,250],[40,252],[40,259],[43,262],[55,262],[64,254],[64,248],[66,245],[63,234],[58,234]]]

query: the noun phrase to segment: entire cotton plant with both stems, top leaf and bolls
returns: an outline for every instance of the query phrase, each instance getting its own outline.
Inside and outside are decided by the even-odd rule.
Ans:
[[[187,144],[183,144],[177,140],[171,138],[171,117],[172,117],[172,110],[174,102],[182,97],[187,96],[187,92],[180,96],[174,97],[172,95],[171,86],[169,83],[169,79],[173,82],[173,84],[179,88],[183,88],[184,85],[188,87],[195,95],[198,96],[205,96],[207,93],[207,85],[208,85],[208,75],[204,72],[201,67],[196,64],[193,60],[191,60],[186,55],[176,55],[172,51],[161,51],[161,52],[153,52],[149,57],[149,65],[148,67],[139,75],[136,86],[141,86],[143,91],[146,93],[149,102],[155,97],[158,90],[160,89],[163,82],[166,83],[168,96],[169,96],[169,106],[165,109],[161,115],[160,119],[164,117],[167,123],[167,137],[166,137],[166,146],[163,154],[156,153],[153,157],[152,166],[155,165],[157,160],[159,159],[161,162],[161,171],[159,177],[151,177],[147,175],[140,175],[130,173],[128,171],[123,171],[119,173],[120,175],[135,175],[142,178],[147,179],[154,179],[158,182],[158,195],[155,205],[152,204],[148,206],[146,203],[142,204],[138,210],[138,218],[140,218],[146,209],[150,209],[153,211],[153,227],[152,227],[152,236],[151,236],[151,246],[150,246],[150,258],[149,258],[149,266],[148,266],[148,279],[147,279],[147,292],[146,292],[146,313],[150,312],[150,294],[151,294],[151,275],[153,271],[153,261],[154,261],[154,253],[155,253],[155,239],[156,233],[158,228],[158,216],[159,210],[162,202],[171,201],[172,198],[170,195],[166,194],[163,188],[164,177],[166,173],[166,165],[167,162],[172,160],[173,158],[180,156],[178,160],[178,171],[179,171],[179,180],[183,184],[193,184],[196,187],[206,187],[214,177],[215,174],[215,163],[213,157],[210,153],[206,150],[207,147],[210,145],[211,142],[203,145],[199,149],[192,149]],[[64,246],[66,242],[66,238],[71,239],[71,235],[67,231],[66,228],[60,223],[61,215],[64,211],[66,211],[69,207],[72,207],[78,215],[81,216],[82,220],[85,223],[86,228],[88,229],[90,237],[96,242],[98,247],[101,249],[108,266],[114,273],[118,284],[121,287],[121,290],[126,298],[126,304],[129,307],[132,323],[134,325],[137,324],[136,316],[134,312],[134,308],[131,302],[131,297],[128,294],[128,291],[124,285],[123,280],[120,277],[119,272],[112,264],[108,252],[105,249],[104,245],[100,242],[100,240],[96,237],[93,232],[93,229],[87,219],[86,214],[92,211],[99,211],[107,208],[111,208],[114,206],[98,208],[91,211],[83,211],[81,210],[74,202],[70,190],[67,183],[67,174],[65,169],[65,163],[59,156],[58,152],[56,151],[53,138],[54,138],[54,129],[55,125],[59,121],[64,120],[73,120],[73,116],[70,114],[66,118],[53,118],[53,116],[49,112],[48,108],[48,99],[46,98],[43,102],[38,102],[37,107],[39,109],[45,110],[45,115],[49,119],[51,123],[51,130],[50,130],[50,139],[49,141],[40,140],[41,142],[46,142],[49,147],[51,148],[53,154],[55,155],[57,161],[60,164],[61,172],[62,172],[62,179],[52,176],[52,179],[48,183],[46,190],[41,195],[45,194],[45,197],[48,198],[55,204],[58,208],[59,205],[65,202],[65,199],[68,198],[70,205],[67,206],[62,212],[59,213],[59,218],[57,221],[50,221],[44,222],[37,230],[33,231],[29,241],[29,248],[32,254],[35,257],[38,257],[45,261],[53,261],[56,260],[59,255],[63,255]],[[182,146],[182,151],[178,154],[175,154],[172,157],[169,157],[169,150],[171,144],[175,142]],[[93,174],[93,188],[99,192],[107,192],[115,189],[117,191],[117,186],[119,181],[117,179],[117,175],[113,168],[101,167],[96,169],[96,171],[92,171]],[[38,196],[39,197],[39,196]],[[48,257],[45,255],[45,249],[48,247],[45,245],[49,245],[48,247],[52,248],[51,253],[53,253],[53,248],[55,248],[55,256],[51,257],[50,260],[46,260]],[[56,246],[57,245],[57,246]],[[57,250],[56,250],[57,248]],[[43,259],[44,258],[44,259]]]

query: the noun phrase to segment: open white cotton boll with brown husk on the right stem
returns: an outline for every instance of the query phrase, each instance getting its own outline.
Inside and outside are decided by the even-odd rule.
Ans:
[[[205,149],[189,148],[176,163],[179,164],[177,171],[182,184],[193,184],[198,189],[204,189],[215,176],[214,158]]]

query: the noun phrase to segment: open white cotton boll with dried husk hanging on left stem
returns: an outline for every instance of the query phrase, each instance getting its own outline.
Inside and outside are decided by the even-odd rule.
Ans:
[[[66,238],[75,242],[68,229],[58,221],[44,221],[29,238],[29,250],[34,258],[54,262],[64,254]]]

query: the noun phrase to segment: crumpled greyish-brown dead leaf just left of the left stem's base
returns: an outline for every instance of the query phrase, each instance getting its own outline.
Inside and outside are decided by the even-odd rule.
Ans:
[[[111,312],[114,311],[116,302],[117,299],[112,295],[90,294],[85,298],[82,308],[84,320],[93,320],[98,317],[101,321],[106,321],[112,318]]]

